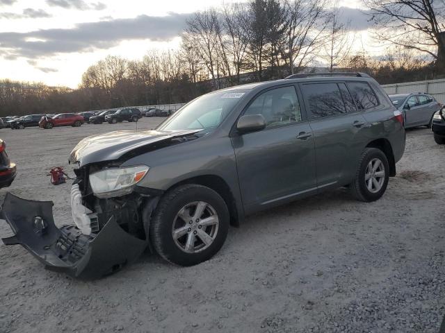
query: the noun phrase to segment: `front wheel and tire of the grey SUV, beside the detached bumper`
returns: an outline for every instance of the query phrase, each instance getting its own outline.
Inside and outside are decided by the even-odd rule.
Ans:
[[[202,185],[168,191],[154,212],[149,236],[163,259],[192,266],[215,255],[227,237],[229,210],[221,196]]]

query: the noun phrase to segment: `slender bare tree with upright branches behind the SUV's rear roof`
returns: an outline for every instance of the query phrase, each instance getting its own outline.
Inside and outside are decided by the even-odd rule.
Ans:
[[[326,29],[326,44],[323,46],[323,58],[329,63],[329,70],[338,66],[348,58],[354,44],[354,36],[350,31],[350,21],[343,23],[343,10],[339,8],[339,0],[334,1]]]

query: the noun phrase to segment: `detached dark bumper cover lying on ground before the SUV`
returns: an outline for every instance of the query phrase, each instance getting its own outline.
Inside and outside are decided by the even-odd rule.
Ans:
[[[120,228],[113,217],[99,233],[90,236],[82,234],[75,225],[59,229],[54,224],[52,206],[51,201],[26,200],[6,194],[0,217],[15,235],[2,239],[3,243],[21,244],[45,268],[81,279],[113,273],[136,259],[147,246],[147,241]]]

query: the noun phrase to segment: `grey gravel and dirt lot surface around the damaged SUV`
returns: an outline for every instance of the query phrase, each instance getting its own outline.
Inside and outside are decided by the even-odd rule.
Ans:
[[[53,200],[56,223],[70,223],[70,184],[51,185],[47,171],[67,167],[81,138],[134,126],[0,130],[19,166],[1,198],[8,190]],[[0,332],[437,332],[444,165],[430,130],[410,130],[382,199],[359,203],[339,189],[251,216],[194,267],[145,253],[115,275],[79,282],[1,244]],[[10,234],[4,221],[0,234]]]

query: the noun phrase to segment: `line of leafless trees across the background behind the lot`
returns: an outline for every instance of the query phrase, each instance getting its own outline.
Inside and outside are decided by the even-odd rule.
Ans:
[[[314,71],[317,64],[327,71],[364,71],[380,84],[444,73],[444,19],[434,0],[369,1],[375,38],[391,42],[377,57],[353,49],[355,34],[337,1],[251,0],[197,12],[186,22],[179,50],[149,51],[140,60],[107,56],[86,70],[77,89],[0,80],[0,114],[182,103],[214,89]],[[389,24],[392,35],[382,35]],[[406,26],[418,26],[411,39],[423,34],[425,42],[398,34]]]

